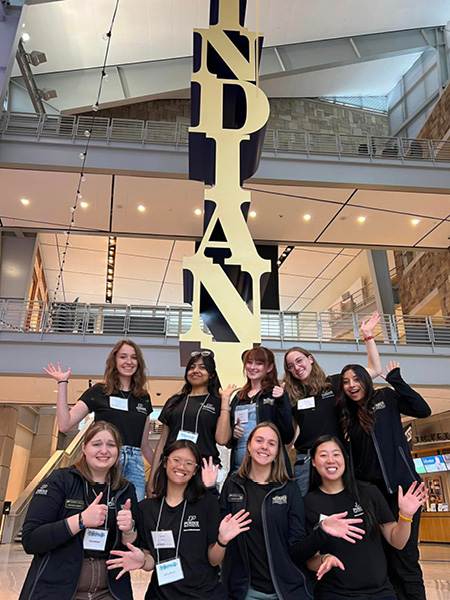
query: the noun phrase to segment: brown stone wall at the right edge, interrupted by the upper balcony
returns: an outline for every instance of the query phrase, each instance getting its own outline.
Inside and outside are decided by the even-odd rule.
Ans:
[[[442,140],[449,134],[450,84],[447,85],[417,137]],[[401,252],[394,254],[403,312],[411,313],[433,290],[437,289],[442,314],[450,316],[450,251],[424,252],[417,262],[406,269],[403,267]]]

